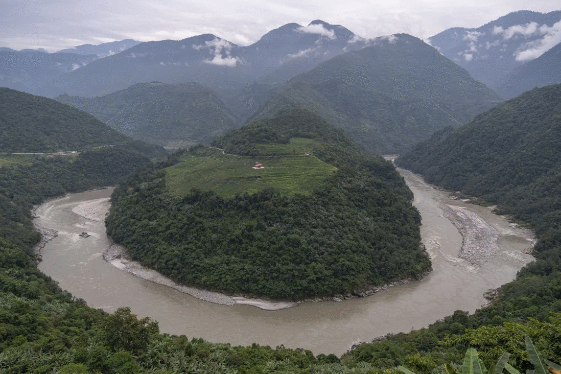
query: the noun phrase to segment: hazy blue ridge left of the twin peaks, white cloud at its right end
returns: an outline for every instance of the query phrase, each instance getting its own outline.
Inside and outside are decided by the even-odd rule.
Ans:
[[[211,34],[149,41],[90,63],[44,90],[54,96],[93,96],[147,81],[195,81],[215,90],[228,90],[240,85],[247,75],[246,67],[234,68],[240,61],[239,48]]]

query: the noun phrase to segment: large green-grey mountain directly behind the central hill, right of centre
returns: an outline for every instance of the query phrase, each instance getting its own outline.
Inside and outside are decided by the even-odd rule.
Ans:
[[[280,86],[253,118],[314,110],[373,153],[399,153],[440,128],[469,121],[498,95],[407,34],[320,63]]]

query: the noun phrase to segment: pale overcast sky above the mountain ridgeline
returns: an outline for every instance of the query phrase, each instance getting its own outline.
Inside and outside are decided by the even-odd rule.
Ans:
[[[320,19],[365,38],[428,38],[449,27],[479,27],[509,12],[561,10],[559,0],[0,0],[0,47],[44,48],[214,34],[249,45],[290,22]]]

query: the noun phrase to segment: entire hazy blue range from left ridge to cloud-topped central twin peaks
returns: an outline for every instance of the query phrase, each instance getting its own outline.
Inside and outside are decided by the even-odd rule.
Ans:
[[[183,40],[140,43],[121,53],[88,64],[42,88],[46,96],[109,94],[147,81],[197,82],[225,100],[261,77],[283,82],[347,50],[367,45],[341,25],[314,21],[288,24],[247,47],[211,34]]]

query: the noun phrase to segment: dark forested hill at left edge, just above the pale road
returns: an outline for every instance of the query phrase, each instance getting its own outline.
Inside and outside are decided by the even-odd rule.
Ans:
[[[0,152],[81,150],[127,140],[70,105],[0,88]]]

